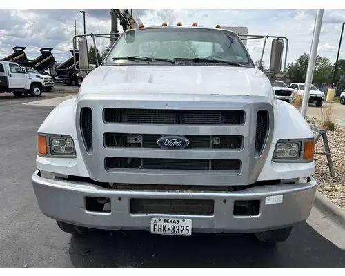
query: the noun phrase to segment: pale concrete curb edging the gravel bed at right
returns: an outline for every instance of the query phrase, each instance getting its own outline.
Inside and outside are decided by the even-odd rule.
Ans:
[[[315,194],[314,206],[325,215],[328,215],[335,224],[345,228],[345,212],[318,191]]]

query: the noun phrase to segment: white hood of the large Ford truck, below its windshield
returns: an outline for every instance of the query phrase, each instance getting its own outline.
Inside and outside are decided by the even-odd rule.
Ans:
[[[194,64],[193,64],[194,65]],[[97,93],[253,95],[273,99],[257,68],[232,66],[99,66],[83,80],[79,97]]]

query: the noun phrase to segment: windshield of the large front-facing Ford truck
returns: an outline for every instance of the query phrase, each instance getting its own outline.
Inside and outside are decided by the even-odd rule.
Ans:
[[[105,65],[145,63],[146,60],[117,59],[124,57],[159,59],[217,59],[254,67],[242,41],[233,32],[199,28],[152,28],[129,30],[119,37],[110,50]],[[164,61],[152,61],[164,63]],[[152,63],[150,61],[150,63]],[[181,61],[179,61],[181,63]],[[219,63],[229,66],[226,63]],[[214,65],[214,64],[213,64]]]

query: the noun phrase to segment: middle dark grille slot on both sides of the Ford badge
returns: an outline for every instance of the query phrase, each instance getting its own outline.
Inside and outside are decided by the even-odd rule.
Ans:
[[[157,144],[157,140],[163,135],[156,134],[140,134],[131,135],[126,133],[106,133],[104,135],[104,146],[112,147],[139,147],[139,148],[161,148]],[[190,144],[188,149],[240,149],[243,144],[243,136],[241,135],[184,135]]]

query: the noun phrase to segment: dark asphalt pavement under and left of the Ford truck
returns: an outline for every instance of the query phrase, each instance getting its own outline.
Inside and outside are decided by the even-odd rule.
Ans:
[[[345,252],[306,223],[270,246],[253,235],[171,237],[99,231],[75,237],[41,213],[30,177],[36,133],[53,106],[21,103],[66,96],[0,97],[0,267],[344,267]]]

